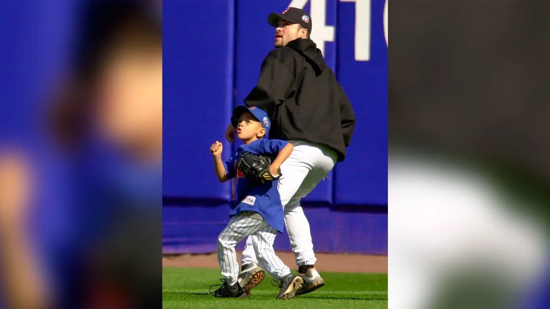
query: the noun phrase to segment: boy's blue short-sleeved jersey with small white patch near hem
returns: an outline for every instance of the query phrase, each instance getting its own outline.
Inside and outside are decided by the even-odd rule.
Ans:
[[[287,144],[288,142],[279,141],[278,139],[262,138],[250,144],[240,145],[235,154],[224,162],[227,178],[237,178],[237,200],[239,204],[230,212],[229,217],[233,217],[241,211],[256,211],[270,226],[281,233],[283,232],[283,204],[277,189],[279,181],[266,181],[262,184],[249,181],[243,172],[237,169],[237,164],[241,154],[246,152],[274,158]]]

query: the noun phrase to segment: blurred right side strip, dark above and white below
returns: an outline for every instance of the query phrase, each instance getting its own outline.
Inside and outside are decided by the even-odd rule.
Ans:
[[[392,3],[389,308],[550,308],[549,9]]]

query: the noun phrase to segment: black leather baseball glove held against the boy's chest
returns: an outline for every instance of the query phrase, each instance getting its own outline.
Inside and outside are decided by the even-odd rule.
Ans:
[[[272,175],[270,166],[271,158],[247,152],[241,155],[237,168],[244,173],[246,179],[264,183],[281,177],[281,168],[278,169],[277,175]]]

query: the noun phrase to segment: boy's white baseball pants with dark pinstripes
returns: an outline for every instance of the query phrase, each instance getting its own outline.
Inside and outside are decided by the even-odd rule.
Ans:
[[[290,268],[284,265],[273,250],[277,230],[265,220],[251,217],[254,214],[257,213],[239,212],[229,220],[226,228],[218,235],[218,262],[222,269],[222,276],[227,279],[229,285],[235,284],[239,276],[235,245],[248,236],[260,266],[266,269],[271,277],[281,279],[290,273]]]

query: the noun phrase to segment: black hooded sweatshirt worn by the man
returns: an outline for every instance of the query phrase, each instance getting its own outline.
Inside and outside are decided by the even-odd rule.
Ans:
[[[344,160],[355,115],[313,41],[299,38],[272,50],[244,102],[270,116],[270,138],[324,144]]]

